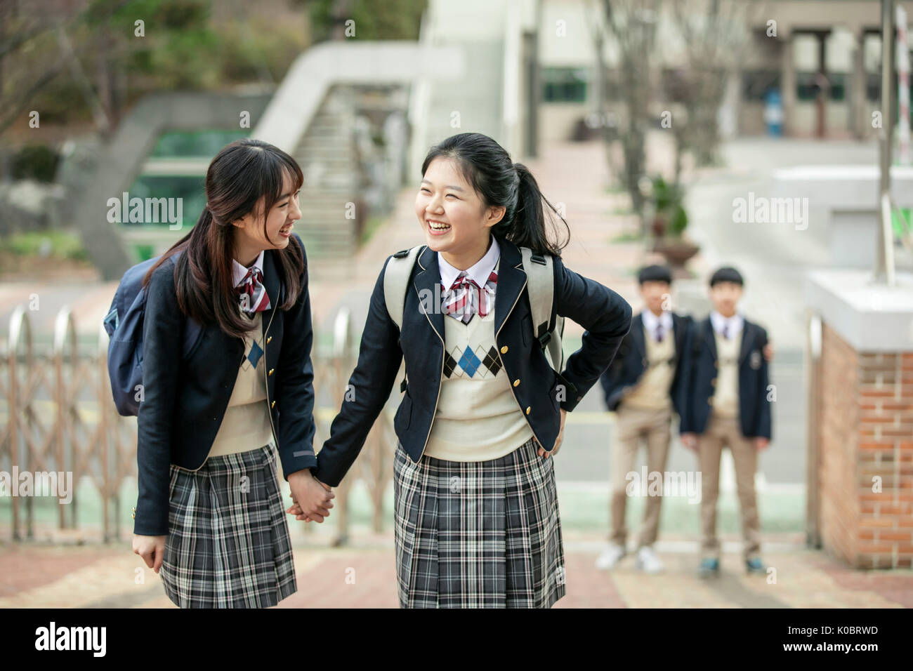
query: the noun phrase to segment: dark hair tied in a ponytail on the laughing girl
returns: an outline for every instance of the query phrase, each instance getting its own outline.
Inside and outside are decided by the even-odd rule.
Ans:
[[[423,175],[439,156],[456,161],[463,177],[472,184],[486,207],[507,208],[501,220],[492,226],[492,235],[504,237],[516,246],[530,247],[539,254],[561,256],[561,249],[567,246],[571,236],[571,228],[542,195],[529,169],[522,163],[513,163],[510,154],[498,142],[480,132],[453,135],[431,148],[422,163]],[[567,235],[563,239],[557,236],[555,217],[564,224]],[[551,239],[546,219],[551,224],[551,233],[555,234]]]

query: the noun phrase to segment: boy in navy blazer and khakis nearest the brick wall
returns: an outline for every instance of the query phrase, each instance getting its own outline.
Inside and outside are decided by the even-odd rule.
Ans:
[[[701,472],[701,576],[719,574],[717,497],[719,459],[732,453],[739,492],[743,558],[749,572],[765,571],[754,491],[758,453],[771,440],[767,331],[736,311],[744,282],[721,267],[710,278],[713,309],[688,332],[682,393],[682,442],[698,453]]]

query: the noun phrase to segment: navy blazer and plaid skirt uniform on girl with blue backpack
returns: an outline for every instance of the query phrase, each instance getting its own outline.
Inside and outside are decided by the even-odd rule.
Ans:
[[[307,272],[295,305],[277,309],[275,254],[250,272],[234,262],[255,329],[240,339],[206,325],[185,356],[173,264],[148,286],[134,533],[166,536],[160,576],[181,607],[267,607],[297,590],[277,456],[286,477],[316,464],[313,338]]]

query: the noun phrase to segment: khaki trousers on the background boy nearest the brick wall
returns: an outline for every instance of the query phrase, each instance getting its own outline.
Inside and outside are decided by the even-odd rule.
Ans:
[[[700,460],[700,518],[702,558],[719,559],[717,540],[717,498],[719,496],[719,457],[729,447],[736,467],[736,489],[739,492],[743,557],[748,560],[761,552],[761,525],[754,493],[754,474],[758,468],[758,450],[751,438],[741,433],[739,416],[722,417],[711,413],[707,430],[698,436]]]

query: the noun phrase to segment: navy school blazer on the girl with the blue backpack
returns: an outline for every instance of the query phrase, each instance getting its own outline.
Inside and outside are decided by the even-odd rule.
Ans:
[[[293,234],[301,246],[297,234]],[[294,243],[290,243],[294,244]],[[282,470],[314,466],[314,372],[310,362],[307,256],[301,293],[295,305],[276,307],[285,299],[274,255],[263,255],[263,283],[270,308],[263,311],[263,357],[273,438]],[[177,306],[174,265],[165,263],[150,278],[143,323],[142,384],[136,458],[139,498],[133,533],[168,533],[169,465],[196,470],[215,441],[244,357],[244,341],[206,325],[200,339],[182,357],[184,314]],[[289,334],[285,331],[289,330]]]

